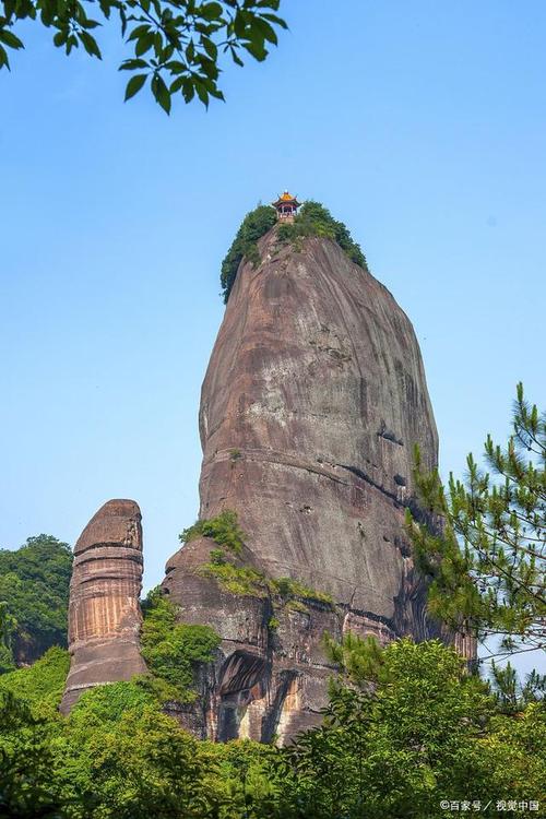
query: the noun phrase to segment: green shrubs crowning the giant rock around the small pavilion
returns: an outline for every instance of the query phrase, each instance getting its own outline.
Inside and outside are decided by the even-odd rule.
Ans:
[[[222,262],[219,281],[224,304],[227,304],[242,259],[251,262],[254,266],[260,263],[258,240],[276,224],[276,212],[271,205],[259,205],[247,213],[242,219],[233,245]],[[296,248],[300,247],[302,239],[310,236],[333,239],[345,251],[351,261],[359,264],[364,270],[368,270],[366,257],[352,238],[347,227],[343,222],[334,219],[330,211],[320,202],[313,202],[312,200],[308,200],[301,205],[293,224],[280,224],[277,230],[280,241],[292,242]]]

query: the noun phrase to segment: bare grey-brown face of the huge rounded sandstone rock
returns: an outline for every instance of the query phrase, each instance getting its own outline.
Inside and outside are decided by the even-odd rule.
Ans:
[[[413,446],[432,467],[438,441],[418,344],[389,290],[329,239],[296,251],[273,229],[260,252],[239,269],[202,388],[200,518],[235,510],[244,562],[335,605],[226,592],[199,573],[209,538],[169,560],[164,590],[181,619],[223,638],[193,727],[285,740],[325,704],[324,630],[438,634],[403,532]]]

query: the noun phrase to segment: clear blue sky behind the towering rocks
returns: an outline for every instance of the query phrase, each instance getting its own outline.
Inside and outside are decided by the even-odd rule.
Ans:
[[[195,519],[201,381],[219,265],[284,188],[323,202],[410,316],[441,467],[546,405],[546,4],[298,0],[226,104],[122,104],[46,32],[0,72],[0,546],[74,543],[135,499],[145,586]]]

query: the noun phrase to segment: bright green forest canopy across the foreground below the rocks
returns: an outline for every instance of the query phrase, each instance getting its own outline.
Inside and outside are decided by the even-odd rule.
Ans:
[[[0,677],[0,815],[435,819],[444,800],[485,816],[497,800],[544,800],[542,702],[507,713],[436,641],[381,650],[349,638],[331,650],[341,673],[322,727],[278,749],[197,740],[138,679],[87,691],[63,717],[68,655],[49,649]]]

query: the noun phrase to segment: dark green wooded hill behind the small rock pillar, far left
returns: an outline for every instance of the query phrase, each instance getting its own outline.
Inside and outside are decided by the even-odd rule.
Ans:
[[[67,645],[72,550],[50,535],[0,549],[0,673]]]

